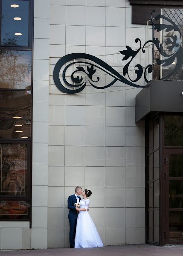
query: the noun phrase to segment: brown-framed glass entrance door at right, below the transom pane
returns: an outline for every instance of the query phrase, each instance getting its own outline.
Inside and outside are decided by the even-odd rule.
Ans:
[[[183,244],[183,149],[164,149],[164,244]]]

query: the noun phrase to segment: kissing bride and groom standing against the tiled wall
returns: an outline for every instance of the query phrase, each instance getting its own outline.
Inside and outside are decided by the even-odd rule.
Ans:
[[[91,190],[76,186],[75,194],[67,202],[69,208],[70,248],[103,247],[102,240],[89,214]],[[81,199],[80,196],[83,196]]]

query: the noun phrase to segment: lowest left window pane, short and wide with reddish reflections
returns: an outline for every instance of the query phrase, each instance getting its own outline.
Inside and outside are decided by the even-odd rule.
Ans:
[[[27,219],[30,204],[28,201],[0,201],[1,219]]]

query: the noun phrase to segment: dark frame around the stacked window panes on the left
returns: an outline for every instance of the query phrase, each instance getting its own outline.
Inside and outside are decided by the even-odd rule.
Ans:
[[[0,0],[0,12],[2,10],[2,0]],[[21,119],[21,120],[30,120],[31,121],[31,137],[28,139],[0,139],[0,144],[27,144],[27,196],[9,196],[4,195],[0,196],[1,200],[7,201],[27,201],[30,204],[29,207],[29,218],[26,219],[4,219],[0,218],[0,221],[29,221],[30,228],[32,227],[32,105],[33,105],[33,31],[34,31],[34,0],[29,0],[29,45],[25,46],[2,46],[0,45],[0,50],[15,50],[15,51],[31,51],[31,118],[30,119]],[[1,36],[1,19],[0,19],[0,36]],[[0,90],[19,90],[27,91],[26,89],[13,89],[13,88],[0,88]],[[1,118],[3,120],[3,118]],[[7,119],[14,120],[15,119]]]

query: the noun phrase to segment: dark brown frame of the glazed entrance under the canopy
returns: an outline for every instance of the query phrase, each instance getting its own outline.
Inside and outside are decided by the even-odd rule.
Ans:
[[[167,181],[164,177],[164,173],[166,172],[166,165],[164,163],[164,157],[166,156],[167,151],[168,152],[182,152],[183,154],[183,146],[164,146],[164,115],[166,116],[183,116],[183,113],[177,113],[177,112],[172,112],[172,113],[165,113],[165,112],[160,112],[158,113],[160,115],[160,130],[159,130],[159,156],[160,156],[160,232],[159,232],[159,239],[160,239],[160,246],[164,246],[166,244],[180,244],[180,242],[174,242],[171,243],[168,241],[166,238],[167,232],[168,232],[168,227],[169,227],[169,222],[168,222],[168,214],[169,211],[167,210],[167,205],[169,204],[169,198],[167,196],[166,192],[166,186],[167,186]],[[156,115],[156,113],[155,113]],[[147,244],[154,244],[150,243],[148,241],[148,204],[149,204],[149,192],[148,192],[148,156],[153,154],[154,151],[152,151],[150,154],[148,154],[148,143],[149,143],[149,138],[148,138],[148,124],[149,122],[154,119],[154,114],[150,113],[148,116],[146,116],[145,119],[145,241]],[[153,133],[154,134],[154,133]],[[154,140],[153,140],[154,143]],[[154,164],[154,161],[153,161]],[[169,192],[169,191],[168,191]],[[154,197],[153,197],[154,198]],[[168,198],[168,199],[167,199]],[[154,201],[153,201],[154,203]],[[176,208],[175,208],[176,209]],[[178,209],[180,210],[180,209]],[[183,209],[182,209],[183,211]],[[153,218],[154,221],[154,218]],[[181,242],[183,244],[183,242]]]

